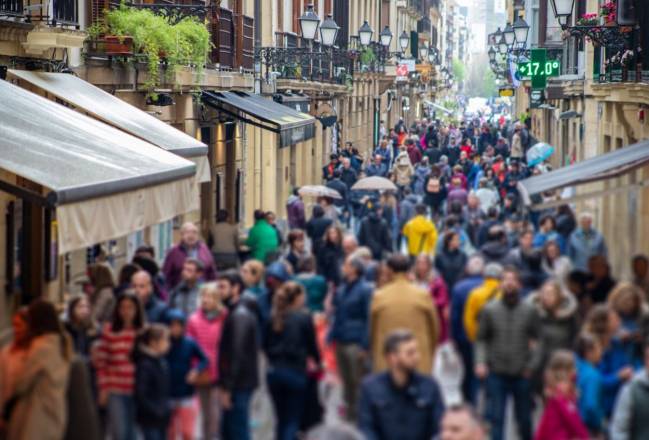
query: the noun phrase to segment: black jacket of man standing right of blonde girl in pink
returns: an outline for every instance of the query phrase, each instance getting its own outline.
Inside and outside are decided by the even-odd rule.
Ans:
[[[243,299],[229,308],[219,345],[219,386],[253,390],[259,385],[257,313]]]

